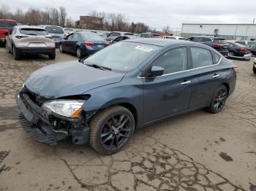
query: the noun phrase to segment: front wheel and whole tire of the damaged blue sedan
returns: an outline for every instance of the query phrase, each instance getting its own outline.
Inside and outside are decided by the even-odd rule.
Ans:
[[[101,154],[111,155],[128,143],[135,130],[135,120],[125,107],[112,106],[99,111],[89,126],[91,147]]]

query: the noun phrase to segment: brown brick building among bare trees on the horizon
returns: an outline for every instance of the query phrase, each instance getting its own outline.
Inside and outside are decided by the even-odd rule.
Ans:
[[[75,24],[78,28],[100,29],[103,26],[103,18],[80,16],[80,20],[78,20]]]

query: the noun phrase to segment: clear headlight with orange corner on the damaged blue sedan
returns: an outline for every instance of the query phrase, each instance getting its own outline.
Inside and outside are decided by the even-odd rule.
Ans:
[[[47,101],[42,105],[43,109],[50,109],[51,112],[64,117],[78,117],[82,111],[85,100],[54,100]]]

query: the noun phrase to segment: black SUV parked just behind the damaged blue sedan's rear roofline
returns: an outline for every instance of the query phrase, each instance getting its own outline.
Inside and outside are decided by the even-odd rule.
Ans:
[[[222,38],[217,38],[213,36],[192,36],[186,40],[206,44],[209,47],[213,47],[222,55],[226,57],[228,56],[228,44]]]

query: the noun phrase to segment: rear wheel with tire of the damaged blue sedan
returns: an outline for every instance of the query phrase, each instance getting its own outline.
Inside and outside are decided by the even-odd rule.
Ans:
[[[210,106],[207,108],[208,112],[211,112],[212,114],[219,113],[222,111],[223,106],[225,106],[226,101],[227,87],[225,87],[225,85],[221,85],[217,89],[214,98],[212,98]]]

